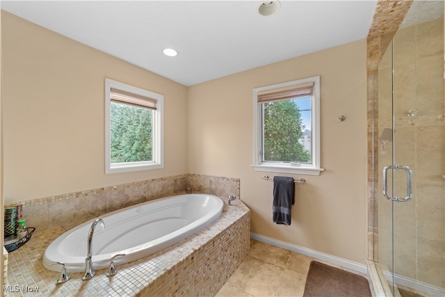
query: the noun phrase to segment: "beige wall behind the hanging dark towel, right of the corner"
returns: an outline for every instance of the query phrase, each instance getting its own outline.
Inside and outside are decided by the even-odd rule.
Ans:
[[[296,185],[291,226],[272,222],[272,172],[252,169],[252,90],[321,76],[320,176]],[[346,121],[338,122],[339,115]],[[366,261],[366,40],[188,88],[188,172],[241,179],[252,232]],[[279,175],[279,174],[277,174]],[[289,176],[289,175],[288,175]]]

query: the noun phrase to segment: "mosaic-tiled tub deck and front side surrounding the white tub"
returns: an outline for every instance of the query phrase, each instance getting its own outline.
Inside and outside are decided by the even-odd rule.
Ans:
[[[60,273],[43,268],[43,252],[71,227],[35,230],[31,241],[11,252],[8,285],[27,286],[34,290],[33,296],[214,296],[243,262],[250,246],[250,211],[236,200],[234,206],[225,204],[220,218],[199,234],[117,266],[118,274],[111,278],[106,277],[107,269],[101,269],[91,280],[82,281],[83,273],[71,273],[71,280],[56,284]]]

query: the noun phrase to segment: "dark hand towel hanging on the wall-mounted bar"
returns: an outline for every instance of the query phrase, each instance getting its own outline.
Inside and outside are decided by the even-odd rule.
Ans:
[[[291,225],[291,209],[295,203],[292,177],[273,177],[273,223]]]

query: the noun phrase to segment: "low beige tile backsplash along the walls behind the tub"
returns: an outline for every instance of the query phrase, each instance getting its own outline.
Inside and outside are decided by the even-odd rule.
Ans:
[[[227,202],[228,195],[239,198],[239,184],[239,179],[234,178],[186,174],[26,200],[19,204],[23,206],[27,226],[47,230],[60,225],[79,225],[133,204],[184,194],[188,187],[193,193],[216,195]]]

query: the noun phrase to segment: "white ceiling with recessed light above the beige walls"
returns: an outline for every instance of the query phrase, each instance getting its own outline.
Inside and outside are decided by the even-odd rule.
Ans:
[[[280,1],[268,17],[261,3],[3,0],[1,9],[191,86],[366,38],[377,1]]]

